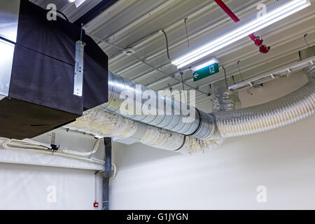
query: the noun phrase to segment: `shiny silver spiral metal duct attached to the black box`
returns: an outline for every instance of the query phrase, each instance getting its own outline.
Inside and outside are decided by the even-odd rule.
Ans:
[[[134,102],[134,109],[132,111],[134,111],[134,113],[123,113],[120,110],[120,106],[122,106],[125,100],[121,99],[120,95],[125,90],[130,91],[134,98],[132,99]],[[162,111],[158,111],[156,115],[144,115],[142,111],[137,111],[136,106],[140,104],[140,108],[142,108],[147,100],[142,97],[142,94],[144,94],[145,91],[151,91],[155,94],[156,105],[160,102],[164,105]],[[167,111],[167,106],[171,107],[172,111]],[[132,80],[123,78],[111,72],[109,72],[109,102],[102,106],[98,106],[98,108],[132,120],[137,120],[141,123],[161,127],[165,130],[195,137],[197,139],[206,139],[213,131],[213,120],[209,114],[198,111],[193,107],[186,106],[186,104],[178,102],[170,97],[165,97],[159,92],[148,89],[148,87],[145,87],[144,85],[134,83]],[[193,116],[195,117],[193,122],[183,122],[183,118],[185,118],[182,113],[183,110],[188,110],[193,113]]]

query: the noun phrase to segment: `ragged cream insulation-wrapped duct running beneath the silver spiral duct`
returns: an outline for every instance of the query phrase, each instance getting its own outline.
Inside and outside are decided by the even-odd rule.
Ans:
[[[78,130],[104,137],[118,137],[126,139],[134,137],[140,127],[139,123],[129,118],[123,118],[100,109],[92,109],[76,119],[75,122],[64,126],[69,130]],[[139,139],[141,144],[179,153],[200,153],[209,151],[220,144],[220,141],[204,141],[182,134],[163,130],[159,127],[145,125],[146,132]]]

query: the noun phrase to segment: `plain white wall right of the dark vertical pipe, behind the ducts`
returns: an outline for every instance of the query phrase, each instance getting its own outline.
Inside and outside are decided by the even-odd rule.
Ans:
[[[245,106],[267,102],[303,85],[298,73],[265,84]],[[207,105],[204,108],[207,109]],[[225,141],[215,151],[179,155],[142,144],[115,144],[118,174],[111,209],[315,209],[315,117]],[[258,203],[258,186],[267,203]]]

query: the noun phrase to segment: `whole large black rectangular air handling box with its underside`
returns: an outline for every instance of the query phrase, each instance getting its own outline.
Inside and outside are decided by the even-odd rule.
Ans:
[[[83,96],[78,97],[73,83],[80,27],[59,17],[47,20],[48,10],[29,1],[19,4],[16,41],[0,30],[0,41],[14,46],[8,94],[0,96],[0,137],[10,139],[54,130],[108,100],[108,57],[97,43],[83,31]],[[0,21],[5,21],[1,16],[3,10]]]

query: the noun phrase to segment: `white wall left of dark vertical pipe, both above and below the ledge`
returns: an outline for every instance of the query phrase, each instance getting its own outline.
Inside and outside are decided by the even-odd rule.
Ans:
[[[56,144],[91,151],[95,139],[55,130]],[[34,140],[50,144],[51,132]],[[92,158],[102,159],[104,144]],[[6,150],[0,146],[0,209],[94,209],[95,170],[103,165],[58,155]],[[52,186],[52,187],[51,187]],[[54,200],[54,195],[55,199]],[[97,202],[102,207],[102,174],[97,174]]]

